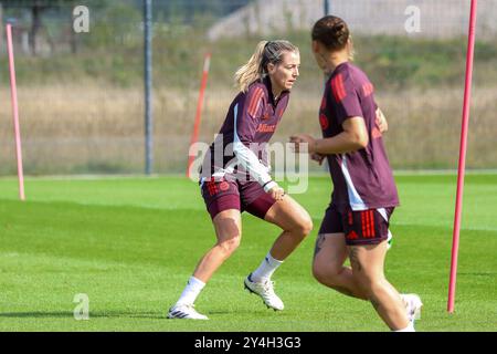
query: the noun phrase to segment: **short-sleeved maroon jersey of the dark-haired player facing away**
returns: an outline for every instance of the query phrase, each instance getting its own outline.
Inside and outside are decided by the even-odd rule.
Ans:
[[[387,157],[383,138],[376,123],[377,104],[368,76],[349,62],[338,65],[329,77],[319,111],[322,136],[343,132],[350,117],[362,117],[368,129],[366,148],[328,155],[334,181],[331,204],[343,209],[367,210],[395,207],[399,196]]]

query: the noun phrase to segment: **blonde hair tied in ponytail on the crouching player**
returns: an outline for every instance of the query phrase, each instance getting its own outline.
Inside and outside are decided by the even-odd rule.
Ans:
[[[246,92],[253,82],[264,79],[268,63],[276,65],[282,62],[284,52],[298,52],[298,49],[290,42],[282,40],[258,42],[248,62],[236,71],[235,85],[241,92]]]

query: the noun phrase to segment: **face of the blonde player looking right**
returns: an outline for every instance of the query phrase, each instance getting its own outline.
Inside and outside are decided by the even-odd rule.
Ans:
[[[298,52],[285,52],[279,64],[267,65],[273,90],[290,91],[299,75],[299,67],[300,54]]]

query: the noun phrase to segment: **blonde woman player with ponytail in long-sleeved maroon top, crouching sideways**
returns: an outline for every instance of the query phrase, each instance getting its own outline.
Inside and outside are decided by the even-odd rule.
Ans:
[[[307,211],[271,178],[266,144],[279,124],[298,76],[298,49],[287,41],[260,42],[251,60],[239,69],[240,87],[201,169],[201,191],[212,218],[216,243],[198,263],[169,319],[208,320],[193,304],[216,269],[239,247],[241,212],[283,229],[261,266],[244,280],[274,310],[283,310],[271,280],[274,271],[310,232]]]

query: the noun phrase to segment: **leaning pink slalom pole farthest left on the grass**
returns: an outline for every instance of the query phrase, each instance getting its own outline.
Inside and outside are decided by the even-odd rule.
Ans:
[[[12,25],[7,24],[7,49],[9,51],[9,69],[10,69],[10,91],[12,98],[12,117],[14,124],[15,136],[15,157],[18,159],[18,179],[19,179],[19,198],[25,199],[24,196],[24,174],[22,170],[22,149],[21,149],[21,129],[19,127],[19,106],[18,106],[18,88],[15,83],[15,66],[12,44]]]

